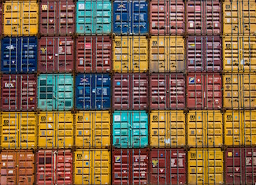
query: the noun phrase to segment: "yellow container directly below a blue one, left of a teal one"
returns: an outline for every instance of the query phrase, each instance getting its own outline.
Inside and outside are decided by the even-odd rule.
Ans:
[[[110,113],[108,111],[80,111],[75,120],[76,148],[110,147]]]

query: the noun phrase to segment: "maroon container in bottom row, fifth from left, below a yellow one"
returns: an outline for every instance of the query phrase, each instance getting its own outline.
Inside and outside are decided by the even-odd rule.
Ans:
[[[184,150],[150,150],[150,184],[186,184],[186,166]]]

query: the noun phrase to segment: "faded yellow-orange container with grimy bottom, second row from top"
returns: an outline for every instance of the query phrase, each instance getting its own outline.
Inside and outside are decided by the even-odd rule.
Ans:
[[[150,72],[184,72],[185,42],[182,36],[152,36]]]

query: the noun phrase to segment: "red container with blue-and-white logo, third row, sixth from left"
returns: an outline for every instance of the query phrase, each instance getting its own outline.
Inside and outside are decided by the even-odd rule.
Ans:
[[[190,73],[187,76],[187,108],[221,109],[222,78],[217,73]]]

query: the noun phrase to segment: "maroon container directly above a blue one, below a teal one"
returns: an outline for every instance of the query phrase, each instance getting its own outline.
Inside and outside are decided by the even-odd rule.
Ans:
[[[77,72],[109,72],[112,42],[109,36],[78,37],[76,39]]]

